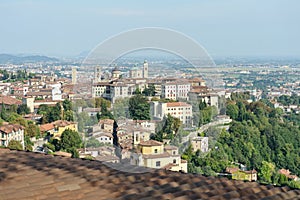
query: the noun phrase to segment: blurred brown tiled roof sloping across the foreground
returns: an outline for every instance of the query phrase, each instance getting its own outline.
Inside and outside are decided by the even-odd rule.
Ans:
[[[300,191],[165,170],[0,149],[0,199],[299,199]]]

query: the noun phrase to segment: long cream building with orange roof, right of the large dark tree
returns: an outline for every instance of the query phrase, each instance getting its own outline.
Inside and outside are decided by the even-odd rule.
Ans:
[[[193,118],[192,105],[185,102],[163,103],[153,101],[150,103],[150,114],[154,119],[158,120],[162,120],[164,116],[170,114],[180,119],[185,125],[191,125]]]

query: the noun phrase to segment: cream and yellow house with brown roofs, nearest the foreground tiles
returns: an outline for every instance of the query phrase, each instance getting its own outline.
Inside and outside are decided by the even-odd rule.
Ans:
[[[137,151],[131,153],[130,163],[149,168],[187,172],[187,162],[181,160],[178,148],[164,146],[163,143],[155,140],[140,142]]]

